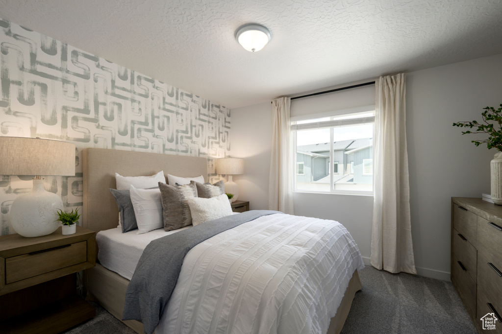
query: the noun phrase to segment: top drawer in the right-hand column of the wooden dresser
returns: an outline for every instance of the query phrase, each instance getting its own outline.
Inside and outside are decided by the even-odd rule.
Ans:
[[[502,226],[478,217],[477,233],[479,253],[502,270]]]

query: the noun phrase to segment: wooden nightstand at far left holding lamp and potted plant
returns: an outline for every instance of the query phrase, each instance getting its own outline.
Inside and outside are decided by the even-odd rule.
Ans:
[[[95,232],[0,237],[2,332],[58,333],[96,314],[76,294],[76,272],[96,265]]]

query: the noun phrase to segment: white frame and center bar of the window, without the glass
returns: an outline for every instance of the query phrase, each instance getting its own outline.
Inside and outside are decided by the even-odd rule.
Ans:
[[[308,115],[301,115],[301,116],[293,116],[290,117],[290,121],[297,122],[297,121],[304,121],[304,120],[310,120],[310,119],[317,119],[317,118],[325,118],[325,117],[337,117],[337,116],[345,116],[349,114],[358,114],[358,113],[363,113],[363,112],[375,112],[375,106],[374,105],[369,105],[369,106],[363,106],[363,107],[357,107],[357,108],[351,108],[351,109],[342,109],[342,110],[335,110],[331,112],[324,112],[324,113],[317,113],[317,114],[308,114]],[[362,123],[361,123],[362,124]],[[336,126],[331,126],[329,127],[330,129],[330,137],[333,138],[333,132],[334,128]],[[328,127],[324,127],[328,128]],[[296,133],[299,130],[293,129],[293,126],[291,128],[291,153],[293,156],[293,161],[294,165],[296,165],[297,161],[297,142],[296,142]],[[373,137],[374,137],[374,120],[373,120]],[[372,159],[371,159],[372,160]],[[333,161],[333,140],[330,143],[330,154],[329,154],[329,161]],[[338,161],[337,161],[338,162]],[[334,164],[334,163],[333,163]],[[354,172],[354,167],[353,167],[353,161],[351,161],[351,172],[353,174]],[[331,163],[329,164],[331,165]],[[339,164],[338,164],[339,168]],[[340,170],[338,169],[338,172]],[[297,174],[299,175],[299,174]],[[305,175],[305,170],[304,174]],[[338,195],[360,195],[360,196],[373,196],[374,192],[374,178],[372,178],[372,185],[371,185],[371,191],[362,191],[362,190],[335,190],[334,189],[334,175],[339,175],[335,173],[330,173],[330,190],[329,191],[313,191],[313,190],[299,190],[297,189],[297,177],[295,175],[294,180],[293,180],[293,192],[295,193],[314,193],[314,194],[338,194]],[[373,174],[371,174],[373,175]]]

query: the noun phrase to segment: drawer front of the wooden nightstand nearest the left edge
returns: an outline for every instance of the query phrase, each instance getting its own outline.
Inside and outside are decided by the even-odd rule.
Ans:
[[[38,276],[87,261],[87,242],[49,248],[6,259],[6,283]]]

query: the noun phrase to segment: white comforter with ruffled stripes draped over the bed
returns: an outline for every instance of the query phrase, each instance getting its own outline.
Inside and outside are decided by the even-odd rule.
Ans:
[[[263,216],[189,251],[156,333],[325,333],[363,267],[338,222]]]

